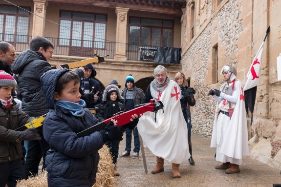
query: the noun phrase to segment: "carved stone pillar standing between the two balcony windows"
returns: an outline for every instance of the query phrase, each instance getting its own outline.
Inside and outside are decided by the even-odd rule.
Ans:
[[[127,15],[129,8],[116,7],[116,47],[114,60],[127,61],[126,57],[126,38],[127,38]]]

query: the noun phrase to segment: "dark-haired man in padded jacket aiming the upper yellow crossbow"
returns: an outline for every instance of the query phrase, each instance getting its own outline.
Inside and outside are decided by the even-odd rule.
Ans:
[[[23,51],[12,64],[12,72],[18,75],[22,95],[22,110],[29,116],[39,117],[49,111],[40,78],[43,73],[52,69],[49,60],[52,58],[54,45],[44,37],[35,37],[30,41],[29,46],[30,50]],[[38,128],[38,132],[41,134],[42,140],[28,142],[24,165],[26,178],[38,174],[38,166],[42,157],[43,168],[45,168],[45,156],[49,145],[43,138],[42,128]]]

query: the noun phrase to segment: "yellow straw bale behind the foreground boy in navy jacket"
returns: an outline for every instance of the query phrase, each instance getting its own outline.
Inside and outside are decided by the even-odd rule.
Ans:
[[[93,187],[113,187],[116,184],[116,179],[112,175],[113,164],[108,146],[104,145],[98,152],[100,161],[96,183]],[[17,187],[48,187],[47,172],[43,170],[38,176],[29,177],[28,180],[21,180],[18,182]]]

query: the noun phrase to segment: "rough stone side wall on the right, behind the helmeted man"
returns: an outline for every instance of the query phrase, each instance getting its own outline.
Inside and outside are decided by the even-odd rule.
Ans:
[[[279,0],[187,0],[182,22],[182,71],[195,87],[193,132],[211,137],[216,102],[208,91],[223,83],[223,65],[246,75],[266,34],[260,83],[253,113],[248,117],[250,157],[281,168],[281,83],[276,58],[281,53]]]

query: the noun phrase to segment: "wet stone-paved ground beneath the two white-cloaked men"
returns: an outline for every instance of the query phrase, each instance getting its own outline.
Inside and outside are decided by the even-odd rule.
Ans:
[[[221,163],[215,160],[215,148],[210,148],[210,141],[209,138],[192,134],[195,165],[191,166],[188,161],[181,164],[180,179],[172,179],[172,166],[167,161],[164,162],[164,172],[151,174],[156,158],[146,147],[148,174],[144,170],[141,151],[139,158],[119,157],[117,187],[273,187],[274,184],[280,184],[275,187],[281,187],[280,170],[250,157],[243,158],[240,173],[225,174],[224,170],[216,170],[215,166]],[[124,150],[125,135],[120,142],[119,154]]]

